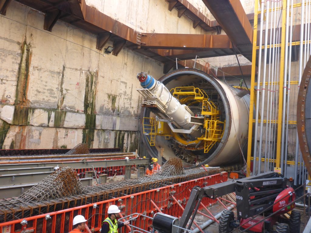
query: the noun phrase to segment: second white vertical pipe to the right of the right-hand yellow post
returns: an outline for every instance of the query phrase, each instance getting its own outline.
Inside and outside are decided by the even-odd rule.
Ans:
[[[293,0],[291,0],[291,7],[290,7],[290,12],[293,12]],[[293,35],[292,35],[292,32],[293,32],[293,14],[291,14],[290,16],[290,48],[289,48],[289,51],[290,51],[290,54],[288,56],[288,64],[290,64],[291,62],[291,49],[292,49],[292,38],[293,38]],[[289,109],[290,109],[290,79],[291,79],[291,65],[288,66],[288,84],[287,84],[287,111],[286,111],[286,135],[285,135],[285,148],[287,148],[287,144],[288,144],[288,125],[289,125]],[[285,150],[285,158],[287,158],[287,149]],[[284,169],[284,174],[286,176],[286,171],[287,171],[287,164],[285,164],[285,169]],[[297,174],[295,173],[294,176],[296,175],[296,178],[297,178]]]

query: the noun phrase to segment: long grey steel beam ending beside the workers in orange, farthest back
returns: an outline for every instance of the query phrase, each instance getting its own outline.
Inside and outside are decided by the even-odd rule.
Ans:
[[[14,164],[1,164],[0,169],[8,168],[22,168],[22,167],[56,167],[58,166],[68,166],[73,169],[78,168],[92,168],[94,167],[114,167],[114,166],[126,166],[126,165],[142,165],[149,164],[150,160],[148,158],[137,158],[130,159],[127,162],[125,159],[111,159],[111,160],[83,160],[74,162],[41,162],[41,163],[14,163]]]

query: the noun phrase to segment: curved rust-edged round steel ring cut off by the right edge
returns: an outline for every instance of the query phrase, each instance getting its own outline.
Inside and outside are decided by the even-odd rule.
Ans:
[[[308,173],[311,174],[311,56],[304,68],[297,100],[297,133],[299,147]]]

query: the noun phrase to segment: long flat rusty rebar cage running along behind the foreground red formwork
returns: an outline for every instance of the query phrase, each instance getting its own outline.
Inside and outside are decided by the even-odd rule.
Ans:
[[[165,174],[156,174],[103,185],[85,186],[80,194],[44,201],[28,201],[27,199],[19,199],[19,197],[2,199],[0,200],[0,222],[22,219],[112,198],[119,198],[164,187],[166,185],[174,185],[176,183],[198,179],[219,173],[220,171],[220,169],[208,169],[205,171],[204,169],[193,168],[185,170],[182,175],[166,176]],[[42,194],[38,193],[37,195]]]

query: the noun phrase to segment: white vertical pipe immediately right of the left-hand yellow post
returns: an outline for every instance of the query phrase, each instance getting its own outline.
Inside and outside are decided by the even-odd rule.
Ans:
[[[269,11],[269,10],[268,10]],[[262,25],[264,18],[264,0],[261,1],[261,17],[260,17],[260,33],[259,33],[259,56],[258,56],[258,75],[257,75],[257,90],[256,90],[256,117],[255,117],[255,136],[254,136],[254,159],[253,159],[253,174],[256,174],[256,158],[257,158],[257,131],[258,131],[258,114],[259,114],[259,90],[260,90],[260,75],[261,75],[261,55],[262,55]],[[261,151],[259,151],[259,154]],[[260,161],[258,161],[260,164]]]

